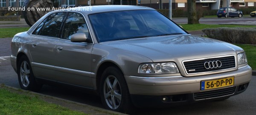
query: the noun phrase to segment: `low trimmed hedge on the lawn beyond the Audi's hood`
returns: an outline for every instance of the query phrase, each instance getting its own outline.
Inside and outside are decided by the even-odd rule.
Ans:
[[[209,38],[237,44],[256,45],[256,28],[206,28],[202,30]]]

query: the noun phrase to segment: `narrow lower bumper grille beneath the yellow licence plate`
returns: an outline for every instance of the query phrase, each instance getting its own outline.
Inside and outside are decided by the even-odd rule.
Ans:
[[[194,93],[195,100],[217,98],[226,95],[232,95],[236,91],[236,87],[225,88],[221,90],[205,91],[200,93]]]

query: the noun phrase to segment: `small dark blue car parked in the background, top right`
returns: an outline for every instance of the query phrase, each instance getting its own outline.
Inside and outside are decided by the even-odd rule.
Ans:
[[[228,9],[229,17],[242,17],[243,12],[235,8],[229,7]],[[217,17],[227,17],[227,7],[220,8],[217,12]]]

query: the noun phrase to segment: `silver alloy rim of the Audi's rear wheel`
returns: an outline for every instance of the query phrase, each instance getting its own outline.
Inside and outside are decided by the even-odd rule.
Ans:
[[[30,70],[26,61],[23,61],[20,65],[20,80],[24,87],[29,86]]]

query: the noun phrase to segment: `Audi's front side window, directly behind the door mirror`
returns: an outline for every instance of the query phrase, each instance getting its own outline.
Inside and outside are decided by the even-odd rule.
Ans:
[[[90,38],[89,30],[84,17],[80,13],[70,12],[64,24],[62,39],[70,39],[71,35],[84,33],[87,38]]]

